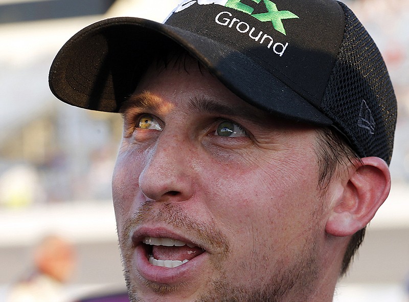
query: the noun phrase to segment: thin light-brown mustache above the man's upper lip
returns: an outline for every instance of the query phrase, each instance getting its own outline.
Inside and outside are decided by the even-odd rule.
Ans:
[[[203,222],[189,216],[178,204],[164,203],[161,207],[155,202],[145,201],[133,213],[124,227],[123,239],[130,239],[133,230],[144,224],[168,225],[181,234],[188,234],[197,244],[210,250],[229,254],[229,243],[226,236],[220,232],[212,221]]]

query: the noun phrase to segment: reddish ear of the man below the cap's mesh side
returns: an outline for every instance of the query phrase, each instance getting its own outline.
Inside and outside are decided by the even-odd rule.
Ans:
[[[351,165],[346,176],[338,180],[338,189],[331,197],[326,232],[334,236],[350,236],[364,228],[391,189],[389,167],[377,157],[366,157]]]

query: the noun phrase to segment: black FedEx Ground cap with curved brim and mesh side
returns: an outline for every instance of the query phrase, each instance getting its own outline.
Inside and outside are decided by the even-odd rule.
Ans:
[[[118,112],[157,49],[171,43],[248,103],[333,126],[359,156],[390,162],[397,105],[387,68],[356,16],[333,0],[184,1],[164,24],[102,20],[62,47],[51,91],[75,106]]]

